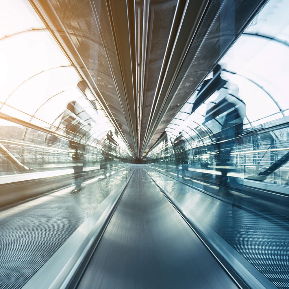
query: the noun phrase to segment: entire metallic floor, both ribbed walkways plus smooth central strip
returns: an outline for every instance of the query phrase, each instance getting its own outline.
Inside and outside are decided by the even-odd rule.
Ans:
[[[148,165],[70,191],[2,212],[1,288],[288,284],[288,217],[249,207],[240,192],[230,202]]]

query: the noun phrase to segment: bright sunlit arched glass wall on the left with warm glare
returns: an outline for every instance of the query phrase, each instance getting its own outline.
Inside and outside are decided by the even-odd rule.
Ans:
[[[2,1],[0,14],[0,175],[72,168],[75,149],[87,170],[130,158],[31,5]]]

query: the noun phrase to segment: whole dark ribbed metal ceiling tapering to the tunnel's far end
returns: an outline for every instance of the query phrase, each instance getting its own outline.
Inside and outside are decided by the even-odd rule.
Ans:
[[[264,2],[29,1],[138,158]]]

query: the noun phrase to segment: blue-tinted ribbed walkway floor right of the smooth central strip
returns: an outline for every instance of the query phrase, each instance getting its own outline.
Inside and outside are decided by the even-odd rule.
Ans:
[[[277,288],[289,288],[287,216],[250,203],[245,196],[238,206],[230,205],[156,171],[149,173],[168,195],[183,204],[189,215],[199,216],[204,225],[210,226]],[[204,185],[204,189],[210,188]],[[218,195],[215,188],[210,190]],[[240,200],[241,194],[236,194]],[[241,208],[242,204],[246,208]]]

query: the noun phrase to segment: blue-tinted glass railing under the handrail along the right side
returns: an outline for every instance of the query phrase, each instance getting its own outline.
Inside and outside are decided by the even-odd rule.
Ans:
[[[151,160],[166,171],[182,177],[193,177],[229,184],[230,179],[250,179],[271,184],[287,185],[289,177],[289,146],[287,123],[271,128],[249,131],[238,139],[218,140],[211,144],[187,149],[186,140],[160,144],[160,151]],[[193,144],[191,144],[193,146]],[[172,152],[168,154],[168,152]]]

